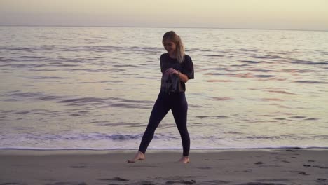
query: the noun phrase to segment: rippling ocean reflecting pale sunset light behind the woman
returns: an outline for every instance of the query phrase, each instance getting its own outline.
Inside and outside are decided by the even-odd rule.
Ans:
[[[328,148],[328,32],[0,27],[0,149],[138,149],[170,30],[191,149]],[[182,149],[171,112],[149,149]]]

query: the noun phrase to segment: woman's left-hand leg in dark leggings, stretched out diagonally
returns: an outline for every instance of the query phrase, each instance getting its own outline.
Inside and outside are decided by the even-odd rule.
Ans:
[[[149,118],[149,123],[147,125],[146,131],[142,136],[142,141],[139,146],[139,151],[146,153],[151,140],[153,139],[153,134],[155,133],[156,128],[158,127],[160,121],[168,114],[170,110],[168,104],[168,95],[165,93],[159,93],[158,98],[153,105],[153,110],[151,111],[151,116]]]

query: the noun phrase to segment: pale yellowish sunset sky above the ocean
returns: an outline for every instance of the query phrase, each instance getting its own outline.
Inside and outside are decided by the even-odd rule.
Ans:
[[[0,0],[0,25],[328,31],[328,0]]]

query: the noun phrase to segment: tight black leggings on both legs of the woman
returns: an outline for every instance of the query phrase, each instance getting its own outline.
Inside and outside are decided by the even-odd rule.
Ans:
[[[146,149],[149,146],[151,139],[153,139],[153,134],[158,124],[162,121],[165,115],[168,114],[170,109],[172,110],[173,117],[175,118],[175,124],[177,125],[182,139],[182,146],[184,149],[183,155],[189,156],[190,139],[186,128],[188,104],[186,102],[184,92],[168,94],[160,91],[158,98],[153,105],[149,123],[139,146],[139,151],[146,153]]]

